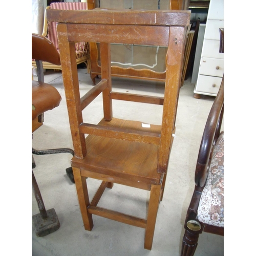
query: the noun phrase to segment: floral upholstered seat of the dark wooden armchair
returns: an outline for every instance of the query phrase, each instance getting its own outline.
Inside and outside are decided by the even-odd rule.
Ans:
[[[198,220],[224,227],[224,132],[221,132],[214,149],[198,207]]]

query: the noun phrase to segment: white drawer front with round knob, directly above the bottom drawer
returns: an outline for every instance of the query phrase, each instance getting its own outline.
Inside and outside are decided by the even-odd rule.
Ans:
[[[222,77],[224,72],[224,61],[223,59],[215,59],[215,58],[201,58],[200,62],[200,75],[207,76],[218,76]]]

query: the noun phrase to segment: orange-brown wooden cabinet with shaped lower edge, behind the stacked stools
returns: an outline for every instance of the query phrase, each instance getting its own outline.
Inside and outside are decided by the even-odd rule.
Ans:
[[[187,0],[88,0],[89,9],[188,9]],[[112,66],[111,74],[117,77],[147,79],[155,81],[165,81],[165,56],[167,48],[149,47],[136,45],[111,45]],[[91,65],[88,70],[91,79],[96,84],[95,79],[101,74],[99,48],[97,42],[90,42]],[[130,63],[130,65],[129,65]]]

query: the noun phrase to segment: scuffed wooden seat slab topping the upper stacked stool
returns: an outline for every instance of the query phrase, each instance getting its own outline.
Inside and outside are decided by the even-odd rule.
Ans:
[[[49,22],[58,23],[189,26],[190,11],[115,9],[66,11],[49,9],[47,10],[47,18]]]

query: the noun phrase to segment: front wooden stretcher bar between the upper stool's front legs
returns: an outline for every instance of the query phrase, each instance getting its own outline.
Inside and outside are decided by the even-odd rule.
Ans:
[[[160,135],[158,133],[123,130],[117,127],[108,127],[91,123],[80,124],[80,132],[84,134],[92,134],[134,142],[143,142],[154,145],[159,145],[160,142]]]

